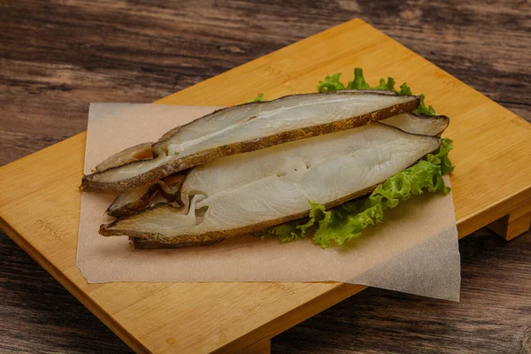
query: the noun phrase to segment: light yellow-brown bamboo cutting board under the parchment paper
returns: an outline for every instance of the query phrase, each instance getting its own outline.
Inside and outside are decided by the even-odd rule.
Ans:
[[[450,116],[459,236],[491,224],[506,238],[531,220],[531,126],[360,19],[222,73],[158,104],[232,105],[314,92],[365,69],[407,81]],[[0,226],[137,352],[267,352],[269,338],[364,289],[342,283],[88,284],[75,266],[85,133],[0,169]],[[496,221],[497,219],[500,219]],[[496,221],[496,222],[494,222]],[[494,223],[493,223],[494,222]]]

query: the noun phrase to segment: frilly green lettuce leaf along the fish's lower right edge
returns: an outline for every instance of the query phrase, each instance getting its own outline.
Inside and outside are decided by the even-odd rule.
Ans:
[[[312,227],[315,229],[313,242],[322,248],[333,243],[342,245],[349,242],[361,235],[366,227],[381,223],[386,209],[396,207],[413,195],[437,191],[447,194],[450,188],[444,185],[443,174],[453,170],[448,158],[451,149],[452,141],[443,139],[437,153],[428,154],[416,165],[391,176],[370,196],[343,203],[331,210],[309,202],[312,209],[308,219],[281,224],[260,235],[278,237],[281,242],[296,241],[304,238],[306,231]]]

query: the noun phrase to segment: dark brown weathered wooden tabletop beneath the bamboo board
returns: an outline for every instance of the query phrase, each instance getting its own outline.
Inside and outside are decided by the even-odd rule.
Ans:
[[[4,0],[0,165],[85,130],[90,102],[149,103],[355,17],[531,120],[528,0]],[[368,289],[273,352],[530,353],[531,234],[460,250],[459,304]],[[0,264],[0,352],[130,351],[3,233]]]

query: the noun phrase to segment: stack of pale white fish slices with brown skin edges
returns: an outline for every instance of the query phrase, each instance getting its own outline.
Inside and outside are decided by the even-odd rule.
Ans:
[[[228,107],[105,159],[81,189],[119,193],[107,210],[118,219],[99,233],[127,235],[135,248],[305,222],[312,204],[329,210],[369,195],[439,150],[449,119],[412,113],[419,103],[346,89]]]

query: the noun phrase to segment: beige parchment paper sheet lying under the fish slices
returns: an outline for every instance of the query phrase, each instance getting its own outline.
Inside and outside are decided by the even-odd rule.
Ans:
[[[91,104],[85,173],[112,153],[156,141],[219,107]],[[449,183],[449,180],[446,179]],[[458,231],[451,194],[426,194],[385,213],[348,248],[322,250],[308,238],[240,236],[207,247],[133,250],[127,237],[97,234],[114,196],[81,196],[77,266],[90,283],[109,281],[344,281],[458,301]]]

